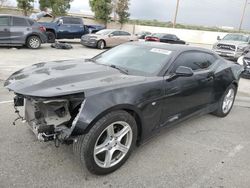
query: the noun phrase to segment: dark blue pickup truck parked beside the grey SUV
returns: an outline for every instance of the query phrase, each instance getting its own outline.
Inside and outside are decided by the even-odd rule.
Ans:
[[[83,19],[78,17],[63,16],[40,24],[46,28],[49,43],[54,43],[56,39],[80,39],[82,35],[89,33]]]

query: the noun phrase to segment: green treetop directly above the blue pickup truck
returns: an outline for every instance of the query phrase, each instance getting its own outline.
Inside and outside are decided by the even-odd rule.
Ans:
[[[40,9],[51,8],[53,16],[66,15],[73,0],[39,0]]]

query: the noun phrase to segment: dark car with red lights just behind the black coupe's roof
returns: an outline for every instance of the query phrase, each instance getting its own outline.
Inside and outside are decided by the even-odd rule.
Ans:
[[[146,36],[145,41],[163,42],[170,44],[186,44],[185,41],[179,39],[176,35],[165,33],[154,33],[150,36]]]

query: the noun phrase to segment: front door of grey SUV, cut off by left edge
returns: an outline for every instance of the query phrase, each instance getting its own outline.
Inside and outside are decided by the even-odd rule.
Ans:
[[[0,16],[0,44],[10,44],[9,16]]]

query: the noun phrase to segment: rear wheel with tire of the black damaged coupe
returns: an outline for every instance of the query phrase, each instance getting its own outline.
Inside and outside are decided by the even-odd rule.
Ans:
[[[233,108],[236,93],[237,88],[235,85],[230,85],[221,97],[218,108],[213,114],[218,117],[226,117]]]

